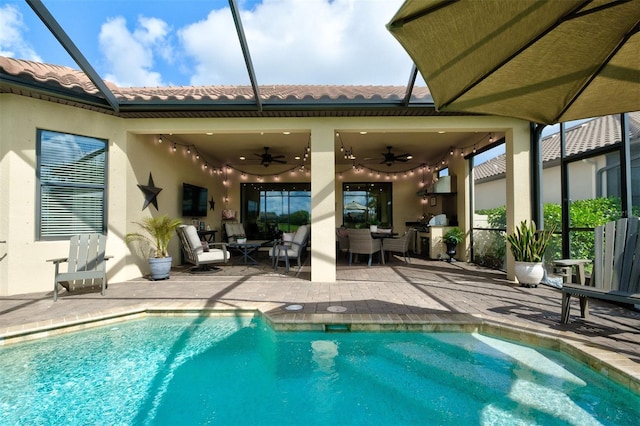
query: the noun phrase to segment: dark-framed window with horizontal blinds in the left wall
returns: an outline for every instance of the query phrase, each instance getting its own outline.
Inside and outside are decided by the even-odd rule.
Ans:
[[[106,233],[107,141],[38,130],[38,239]]]

